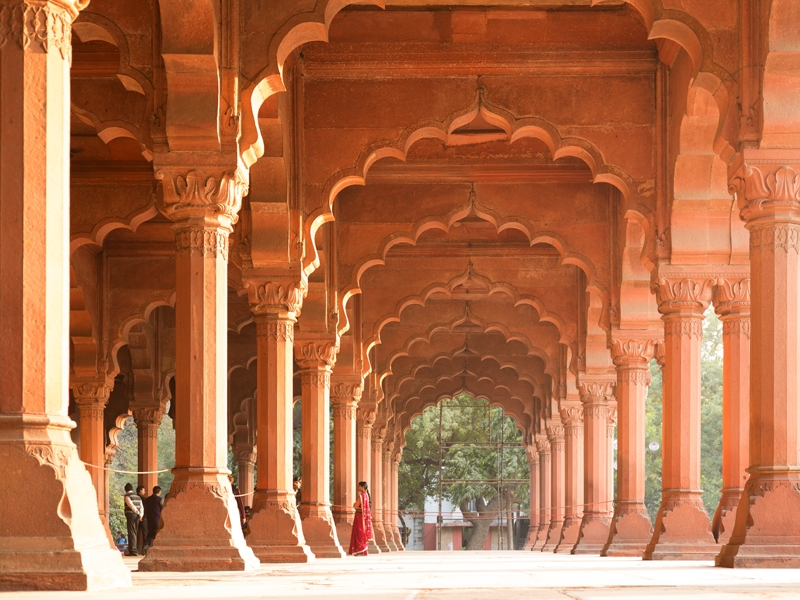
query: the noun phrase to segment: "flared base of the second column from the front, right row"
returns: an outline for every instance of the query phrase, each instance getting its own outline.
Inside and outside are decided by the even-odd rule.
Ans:
[[[714,560],[719,546],[697,492],[664,493],[644,560]]]

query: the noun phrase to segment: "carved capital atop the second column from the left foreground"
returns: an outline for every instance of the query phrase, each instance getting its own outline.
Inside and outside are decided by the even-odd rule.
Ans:
[[[225,164],[232,161],[217,155],[204,156],[199,162],[212,164],[156,164],[155,178],[161,181],[163,190],[159,209],[172,221],[198,222],[206,228],[216,226],[231,233],[242,207],[242,197],[248,191],[246,171],[235,162]]]

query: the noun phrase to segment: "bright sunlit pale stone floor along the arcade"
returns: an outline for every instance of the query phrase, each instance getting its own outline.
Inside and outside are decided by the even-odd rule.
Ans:
[[[125,559],[131,569],[135,559]],[[718,569],[708,562],[532,552],[403,552],[264,565],[250,573],[136,573],[132,588],[0,594],[6,599],[594,600],[800,598],[800,569]]]

